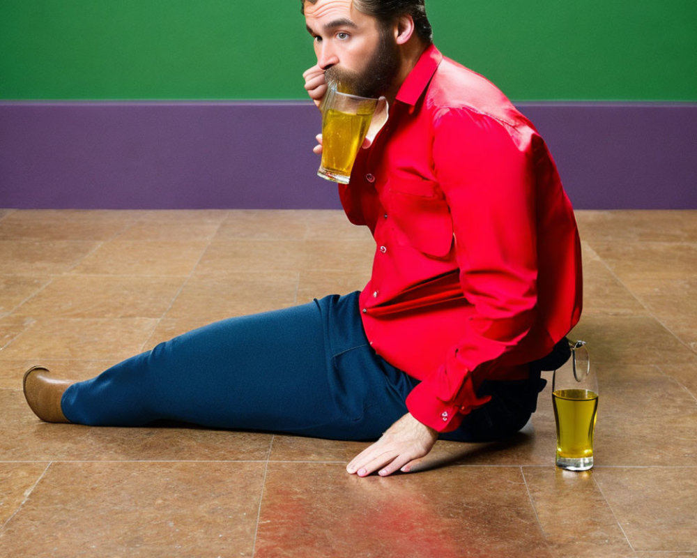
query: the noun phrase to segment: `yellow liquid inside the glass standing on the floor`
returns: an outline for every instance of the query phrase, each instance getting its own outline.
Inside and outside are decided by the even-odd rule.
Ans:
[[[592,458],[598,394],[587,389],[552,393],[557,425],[557,458]]]

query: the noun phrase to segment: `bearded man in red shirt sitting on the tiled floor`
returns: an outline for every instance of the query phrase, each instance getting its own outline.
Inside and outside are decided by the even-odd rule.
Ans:
[[[310,97],[334,80],[390,105],[339,186],[349,220],[376,240],[370,282],[210,324],[87,382],[34,367],[24,393],[43,420],[377,439],[347,470],[386,476],[438,437],[499,439],[535,410],[539,359],[563,349],[581,312],[576,224],[544,142],[436,50],[423,0],[302,8]]]

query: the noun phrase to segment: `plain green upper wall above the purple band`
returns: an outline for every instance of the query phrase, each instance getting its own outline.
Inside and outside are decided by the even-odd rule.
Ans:
[[[296,99],[298,0],[0,0],[0,98]],[[697,1],[428,0],[514,100],[697,101]]]

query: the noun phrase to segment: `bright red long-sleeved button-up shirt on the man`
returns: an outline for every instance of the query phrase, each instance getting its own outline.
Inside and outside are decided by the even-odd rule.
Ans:
[[[360,294],[374,350],[421,382],[420,422],[447,432],[521,379],[581,315],[581,246],[556,166],[493,84],[422,54],[348,185],[348,219],[376,241]]]

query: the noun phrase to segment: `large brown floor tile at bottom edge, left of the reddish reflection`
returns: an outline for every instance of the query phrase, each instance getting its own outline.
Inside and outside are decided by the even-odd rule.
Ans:
[[[8,522],[8,556],[251,556],[263,465],[55,463]]]

